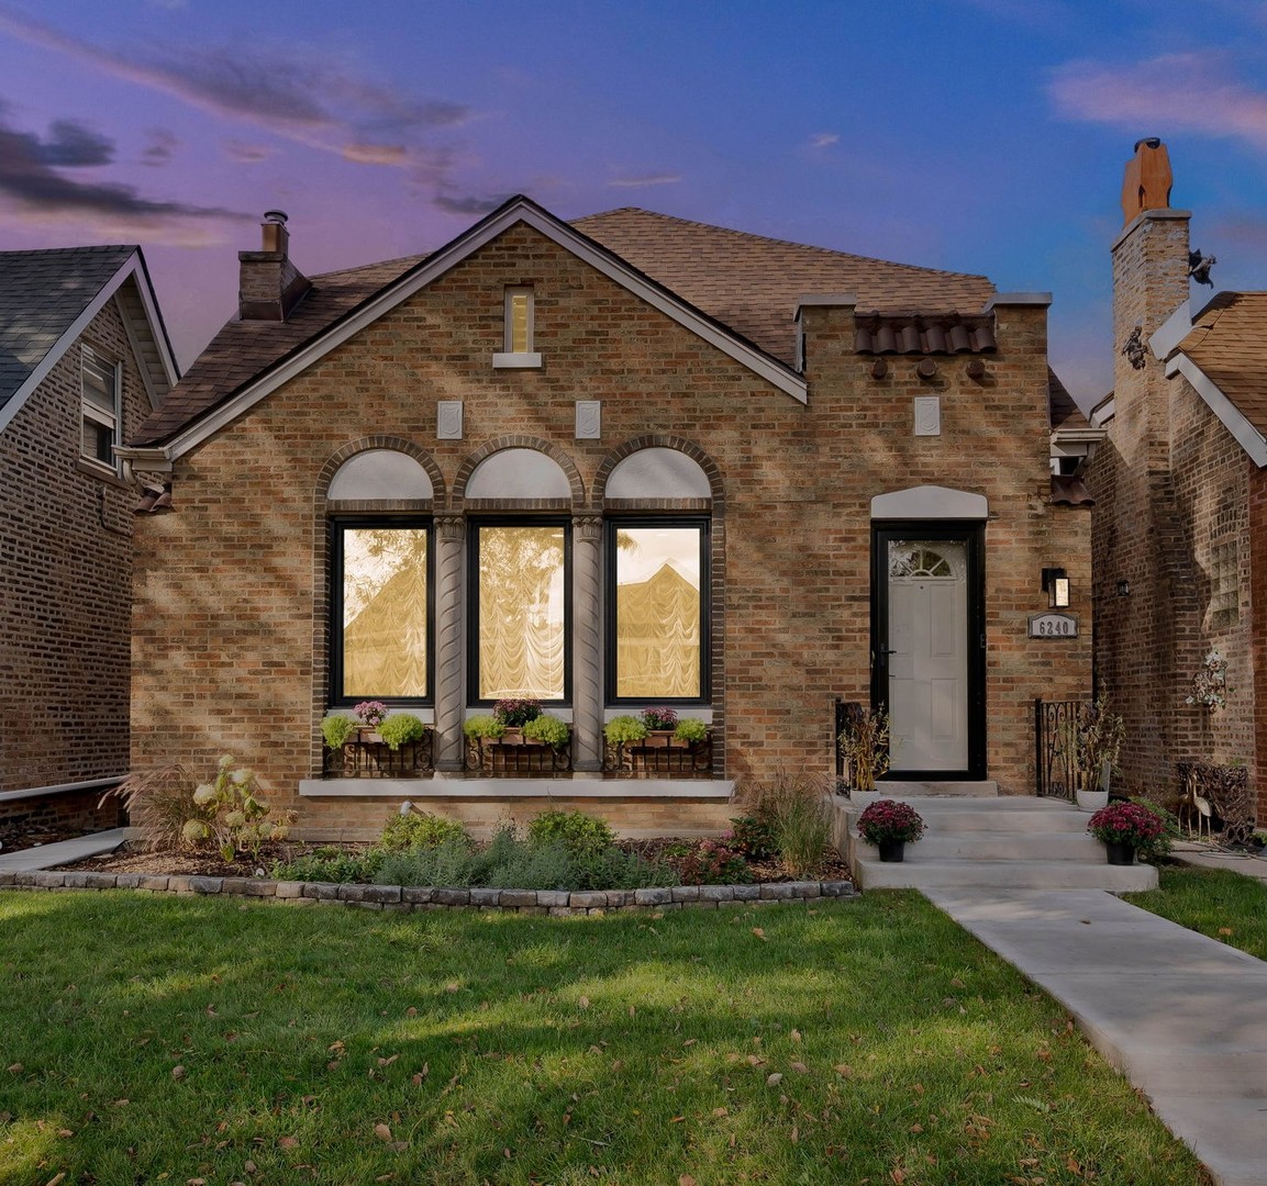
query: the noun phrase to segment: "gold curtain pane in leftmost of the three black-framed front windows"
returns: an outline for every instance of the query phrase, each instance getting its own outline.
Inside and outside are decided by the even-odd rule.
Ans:
[[[427,533],[343,532],[343,695],[427,695]]]

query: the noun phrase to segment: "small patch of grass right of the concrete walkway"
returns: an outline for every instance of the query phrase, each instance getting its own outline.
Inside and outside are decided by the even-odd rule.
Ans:
[[[1161,866],[1161,885],[1126,901],[1267,959],[1267,883],[1229,870]]]

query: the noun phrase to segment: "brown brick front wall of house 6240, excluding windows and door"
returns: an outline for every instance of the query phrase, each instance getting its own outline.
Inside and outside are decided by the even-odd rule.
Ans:
[[[492,368],[508,285],[535,289],[540,370]],[[713,708],[729,777],[832,772],[835,699],[869,700],[870,499],[936,484],[990,499],[990,773],[1029,792],[1033,699],[1090,690],[1088,629],[1025,638],[1044,565],[1068,568],[1090,624],[1088,518],[1048,505],[1045,310],[1000,309],[983,382],[963,358],[939,359],[931,384],[915,358],[873,380],[851,310],[813,308],[806,324],[808,406],[536,232],[481,248],[179,462],[175,513],[138,532],[134,765],[207,768],[232,752],[305,824],[346,827],[346,806],[295,797],[319,759],[328,459],[372,434],[414,442],[442,476],[436,513],[460,513],[464,463],[527,438],[569,458],[573,513],[593,514],[604,465],[654,437],[692,443],[723,492]],[[934,392],[943,435],[917,438],[912,397]],[[455,399],[465,439],[437,440],[436,401]],[[576,399],[602,400],[601,440],[574,438]]]

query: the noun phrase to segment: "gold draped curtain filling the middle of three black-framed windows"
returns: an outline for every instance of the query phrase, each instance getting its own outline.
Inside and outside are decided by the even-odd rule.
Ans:
[[[479,529],[481,700],[564,696],[564,529]]]

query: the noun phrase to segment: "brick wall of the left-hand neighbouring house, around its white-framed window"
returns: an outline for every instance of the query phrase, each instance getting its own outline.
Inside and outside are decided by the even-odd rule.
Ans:
[[[82,339],[123,362],[123,429],[148,403],[113,303]],[[127,773],[136,494],[80,461],[73,346],[0,433],[0,791]]]

